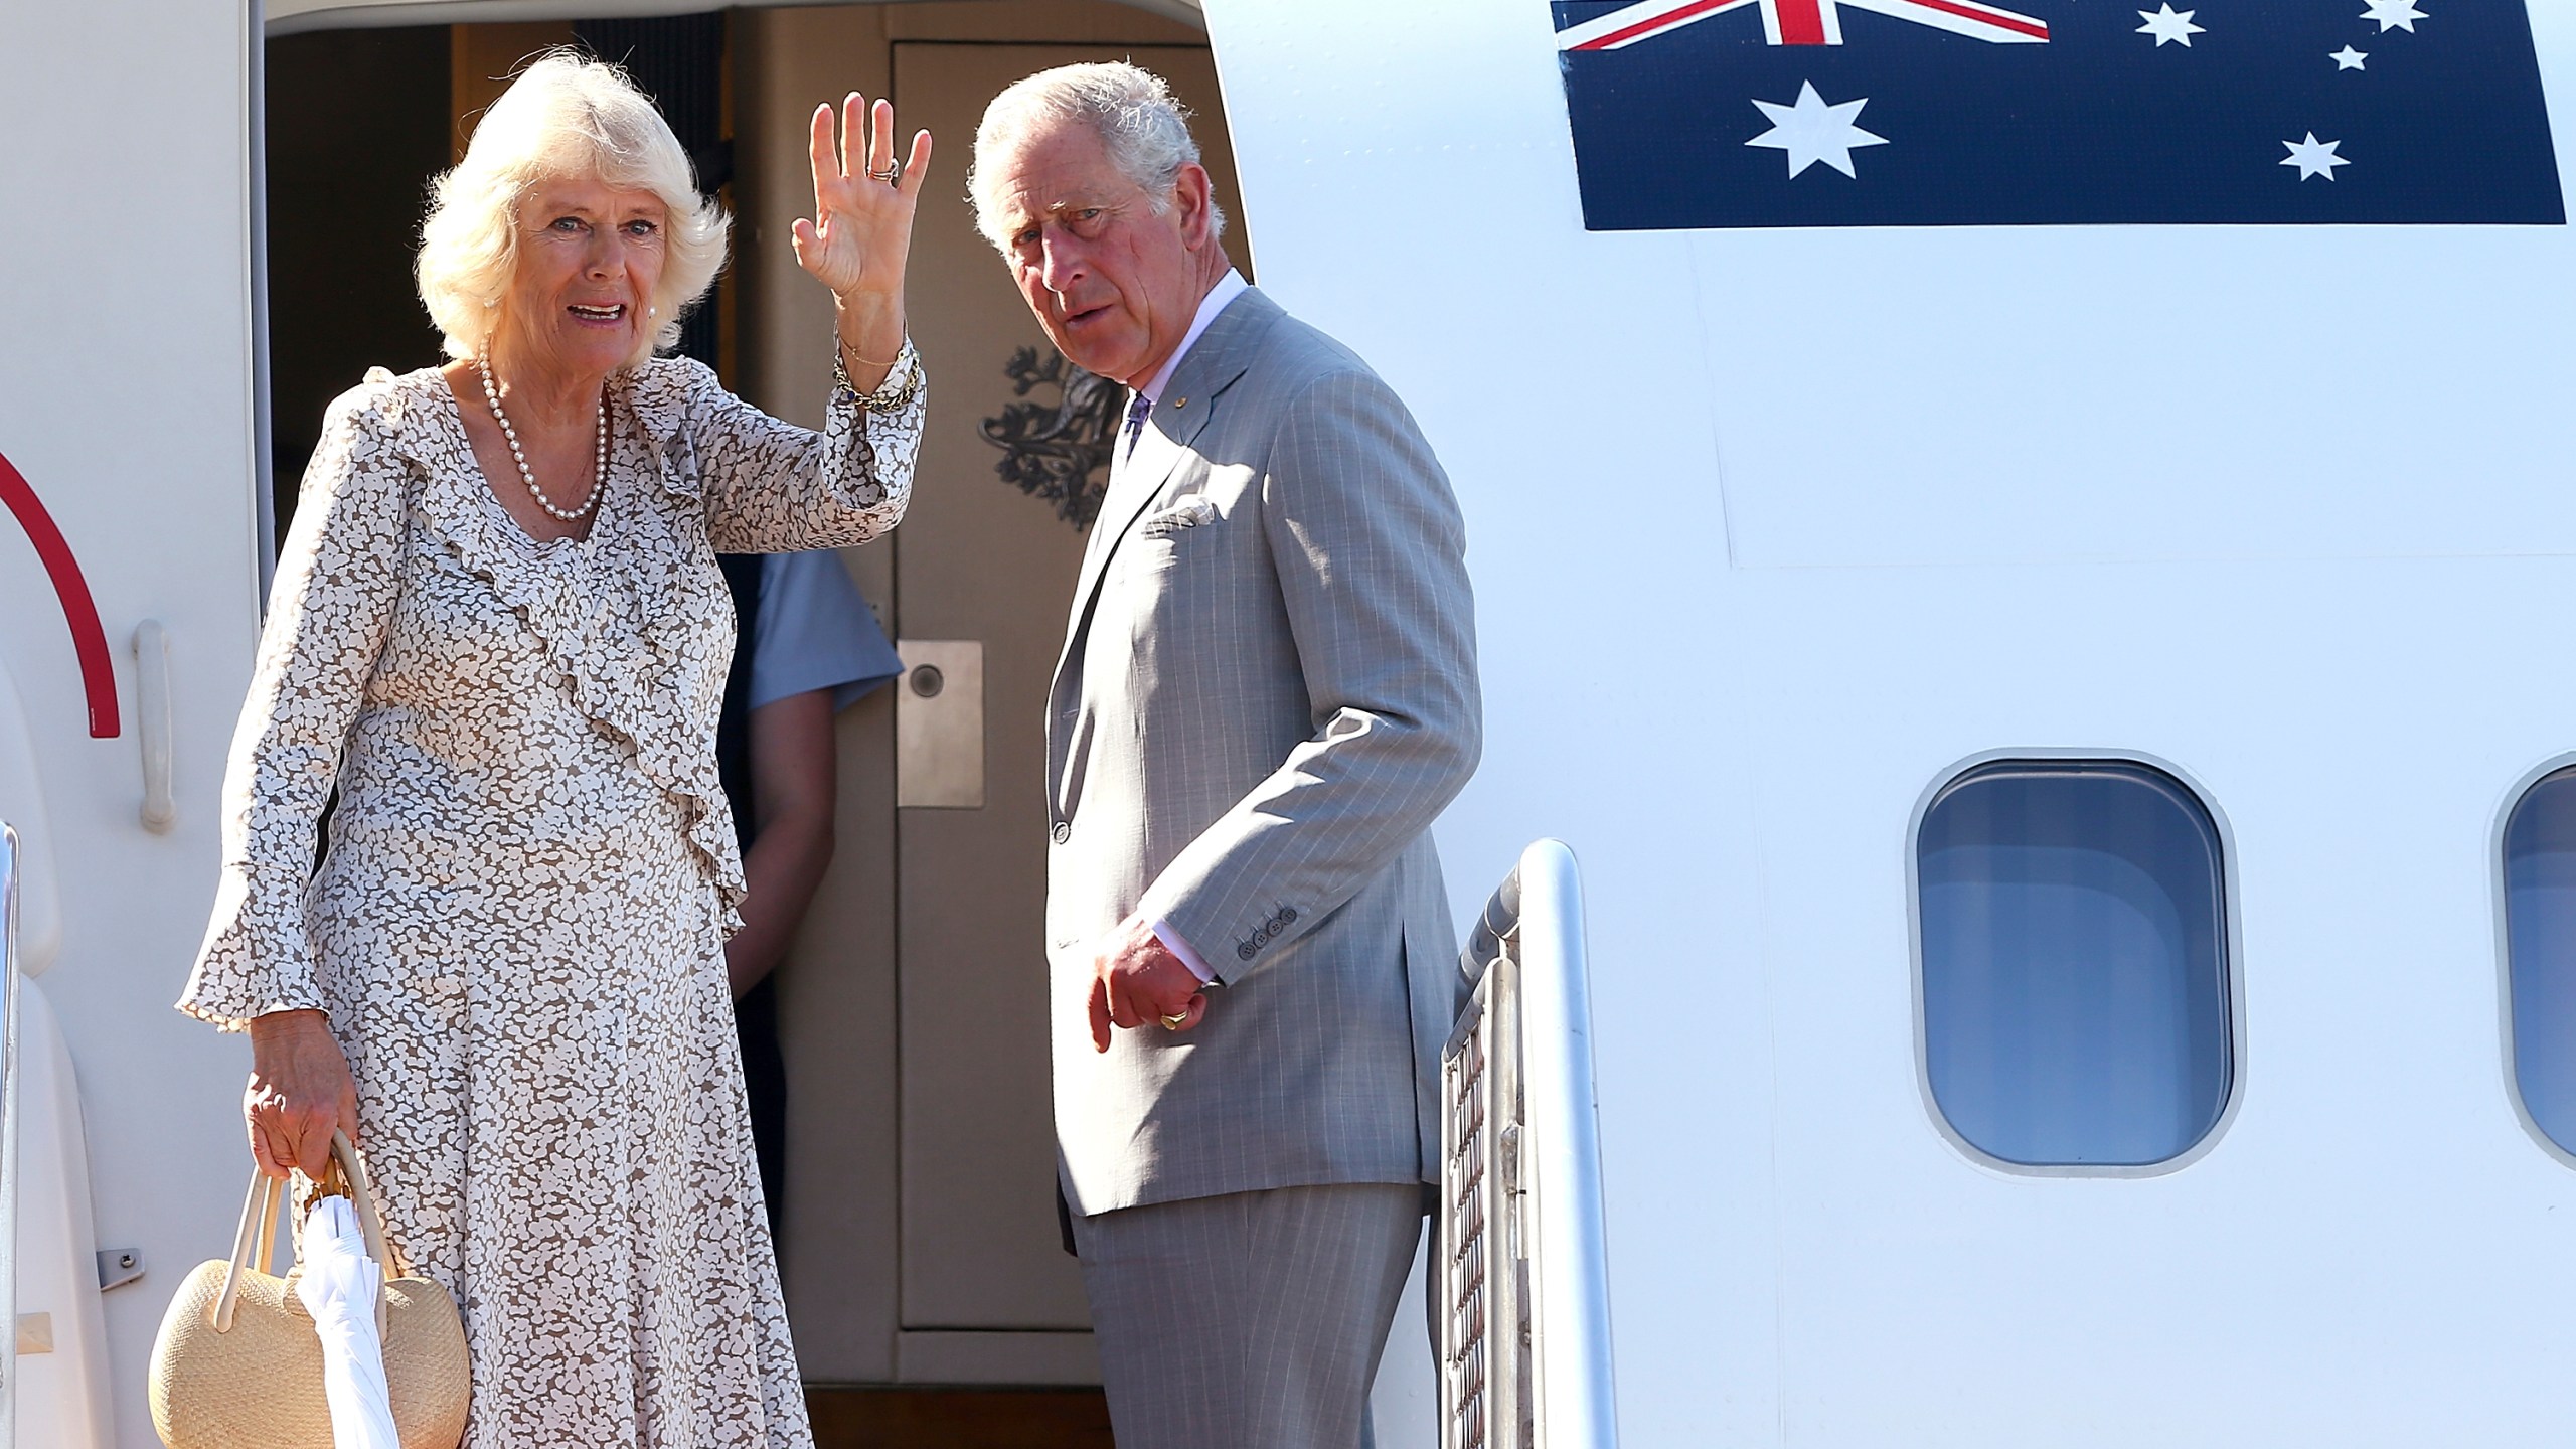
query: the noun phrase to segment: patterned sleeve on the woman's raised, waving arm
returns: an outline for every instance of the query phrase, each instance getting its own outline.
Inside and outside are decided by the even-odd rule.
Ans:
[[[930,402],[912,340],[886,376],[889,389],[912,382],[912,397],[876,413],[835,387],[822,433],[781,423],[726,392],[714,371],[688,366],[688,443],[716,552],[845,549],[904,518]]]

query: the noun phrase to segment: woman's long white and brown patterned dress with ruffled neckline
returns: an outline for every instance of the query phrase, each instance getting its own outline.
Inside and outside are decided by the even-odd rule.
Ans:
[[[922,397],[811,433],[659,358],[611,425],[590,536],[538,544],[435,369],[332,405],[178,1006],[330,1013],[389,1243],[464,1312],[471,1449],[804,1449],[724,980],[716,552],[891,529]]]

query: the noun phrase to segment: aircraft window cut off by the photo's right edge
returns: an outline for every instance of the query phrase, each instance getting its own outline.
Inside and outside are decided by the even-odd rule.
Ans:
[[[2576,766],[2504,820],[2504,962],[2522,1111],[2576,1152]]]

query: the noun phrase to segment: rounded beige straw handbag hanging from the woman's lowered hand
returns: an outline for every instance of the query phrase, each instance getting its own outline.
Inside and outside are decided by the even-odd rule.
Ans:
[[[366,1165],[332,1134],[332,1178],[345,1178],[366,1250],[386,1271],[376,1305],[384,1379],[402,1449],[456,1449],[466,1434],[466,1333],[448,1289],[392,1276],[384,1217]],[[152,1428],[170,1449],[332,1449],[322,1400],[322,1341],[296,1299],[296,1274],[268,1274],[286,1183],[250,1178],[232,1261],[198,1263],[152,1343]],[[337,1183],[325,1183],[325,1194]],[[301,1250],[301,1245],[299,1245]]]

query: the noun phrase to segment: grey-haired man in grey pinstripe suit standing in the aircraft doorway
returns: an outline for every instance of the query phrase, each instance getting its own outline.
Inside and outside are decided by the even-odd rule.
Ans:
[[[1121,1449],[1352,1449],[1466,995],[1430,822],[1476,768],[1458,500],[1244,286],[1131,64],[1005,90],[971,180],[1133,392],[1046,709],[1056,1142]]]

